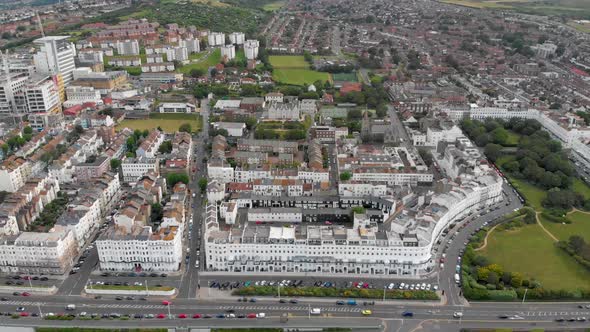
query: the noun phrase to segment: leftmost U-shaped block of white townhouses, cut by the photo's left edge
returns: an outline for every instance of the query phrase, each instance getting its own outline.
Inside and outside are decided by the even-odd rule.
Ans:
[[[80,183],[68,193],[73,199],[47,232],[28,232],[28,225],[57,197],[59,182],[32,179],[0,205],[0,271],[26,274],[64,274],[120,194],[119,179],[104,174]]]

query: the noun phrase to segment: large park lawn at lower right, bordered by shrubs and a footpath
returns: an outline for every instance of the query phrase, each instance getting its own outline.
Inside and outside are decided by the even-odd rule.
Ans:
[[[535,278],[547,289],[590,289],[590,271],[557,248],[537,224],[493,232],[481,253],[507,271]]]

